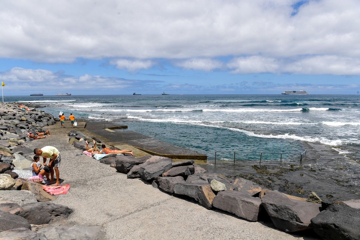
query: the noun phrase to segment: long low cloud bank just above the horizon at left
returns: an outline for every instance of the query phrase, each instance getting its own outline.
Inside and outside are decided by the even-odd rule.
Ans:
[[[66,75],[63,71],[52,72],[44,69],[12,68],[9,71],[0,72],[0,78],[4,80],[9,91],[42,91],[45,95],[51,95],[61,90],[75,90],[83,95],[97,93],[96,89],[102,89],[102,93],[108,92],[119,94],[117,90],[131,88],[156,87],[163,81],[136,80],[117,77],[104,77],[99,75],[84,74],[82,76]],[[79,93],[80,93],[79,92]]]

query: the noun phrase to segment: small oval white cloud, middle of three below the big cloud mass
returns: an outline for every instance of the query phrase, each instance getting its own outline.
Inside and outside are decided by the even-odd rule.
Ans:
[[[185,69],[211,71],[217,68],[221,68],[223,64],[218,60],[209,58],[196,58],[176,62],[175,65]]]

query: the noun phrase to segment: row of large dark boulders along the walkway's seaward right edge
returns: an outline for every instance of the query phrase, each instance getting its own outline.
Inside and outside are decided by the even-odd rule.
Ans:
[[[72,131],[68,135],[69,141],[81,150],[86,148],[85,140],[96,140],[81,132]],[[360,239],[356,227],[360,226],[358,200],[328,203],[324,207],[314,192],[306,199],[263,189],[244,178],[208,173],[193,160],[174,162],[159,156],[135,158],[112,154],[105,159],[102,163],[111,164],[127,178],[141,178],[153,187],[192,199],[207,209],[220,209],[248,221],[271,221],[288,233],[301,235],[314,230],[323,239]]]

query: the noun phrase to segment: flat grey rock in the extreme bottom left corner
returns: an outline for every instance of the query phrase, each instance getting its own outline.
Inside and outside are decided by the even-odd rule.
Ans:
[[[6,240],[48,240],[44,234],[34,232],[28,228],[15,228],[0,232],[0,239]]]

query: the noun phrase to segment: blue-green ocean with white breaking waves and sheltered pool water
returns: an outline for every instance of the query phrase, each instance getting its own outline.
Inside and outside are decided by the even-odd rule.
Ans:
[[[87,121],[126,124],[127,131],[207,154],[209,162],[216,150],[302,153],[307,143],[322,144],[343,159],[341,166],[346,169],[341,170],[348,172],[338,174],[350,178],[352,192],[359,190],[360,179],[359,99],[359,95],[281,94],[5,97],[5,101],[40,105],[55,117],[63,111],[66,117],[73,113]],[[233,153],[217,155],[222,162],[233,158]],[[258,159],[257,153],[236,156],[237,163],[248,166]],[[262,160],[278,163],[280,155],[263,154]],[[283,155],[282,160],[299,165],[299,155]],[[311,164],[314,168],[319,163]],[[330,176],[339,163],[323,167]]]

